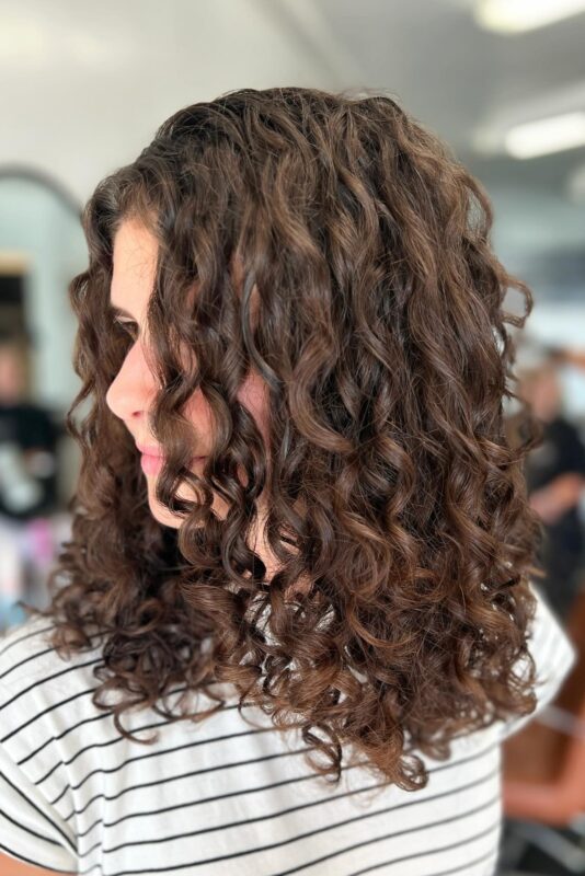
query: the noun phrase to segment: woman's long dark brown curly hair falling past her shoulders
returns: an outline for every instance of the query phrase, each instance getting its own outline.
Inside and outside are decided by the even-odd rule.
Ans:
[[[136,445],[105,403],[129,345],[108,307],[128,218],[159,244],[151,425],[176,528],[153,518]],[[506,323],[524,326],[532,297],[495,257],[492,221],[448,147],[379,91],[227,92],[173,114],[97,185],[89,266],[69,286],[82,382],[66,415],[81,448],[71,538],[49,607],[26,608],[53,620],[64,658],[101,638],[93,701],[112,710],[103,695],[122,692],[121,734],[157,738],[124,727],[130,707],[206,719],[228,684],[240,714],[252,704],[300,729],[329,781],[352,751],[414,791],[428,781],[421,753],[443,760],[456,737],[535,710],[541,527],[523,464],[538,422],[526,405],[514,445],[504,411],[524,404]],[[504,310],[511,288],[523,315]],[[237,399],[252,368],[267,446]],[[196,474],[184,406],[198,389],[215,443]],[[184,484],[193,500],[176,496]],[[249,544],[261,495],[272,579]],[[167,708],[177,684],[217,705]]]

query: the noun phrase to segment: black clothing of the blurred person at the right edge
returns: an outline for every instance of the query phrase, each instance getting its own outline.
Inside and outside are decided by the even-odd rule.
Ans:
[[[585,477],[585,446],[580,433],[563,416],[543,424],[542,443],[528,456],[526,480],[528,493],[548,486],[563,474]],[[544,539],[539,554],[547,577],[539,579],[558,615],[565,620],[578,589],[577,572],[583,558],[585,533],[576,506],[555,523],[544,525]]]

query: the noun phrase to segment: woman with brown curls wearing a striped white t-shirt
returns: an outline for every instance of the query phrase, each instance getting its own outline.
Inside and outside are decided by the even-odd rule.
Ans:
[[[51,604],[1,652],[2,851],[493,873],[530,636],[540,704],[574,652],[529,579],[503,299],[531,297],[485,193],[383,94],[244,89],[83,227],[83,459]]]

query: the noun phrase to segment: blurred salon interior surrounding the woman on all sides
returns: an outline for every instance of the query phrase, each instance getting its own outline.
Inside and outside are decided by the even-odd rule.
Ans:
[[[0,0],[0,646],[69,533],[67,286],[95,184],[228,90],[389,90],[486,188],[535,296],[517,370],[543,426],[537,586],[580,660],[504,752],[502,873],[585,874],[585,0]]]

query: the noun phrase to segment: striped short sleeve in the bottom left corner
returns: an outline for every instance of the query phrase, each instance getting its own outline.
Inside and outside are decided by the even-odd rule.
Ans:
[[[0,745],[0,851],[27,864],[77,873],[70,827]]]

